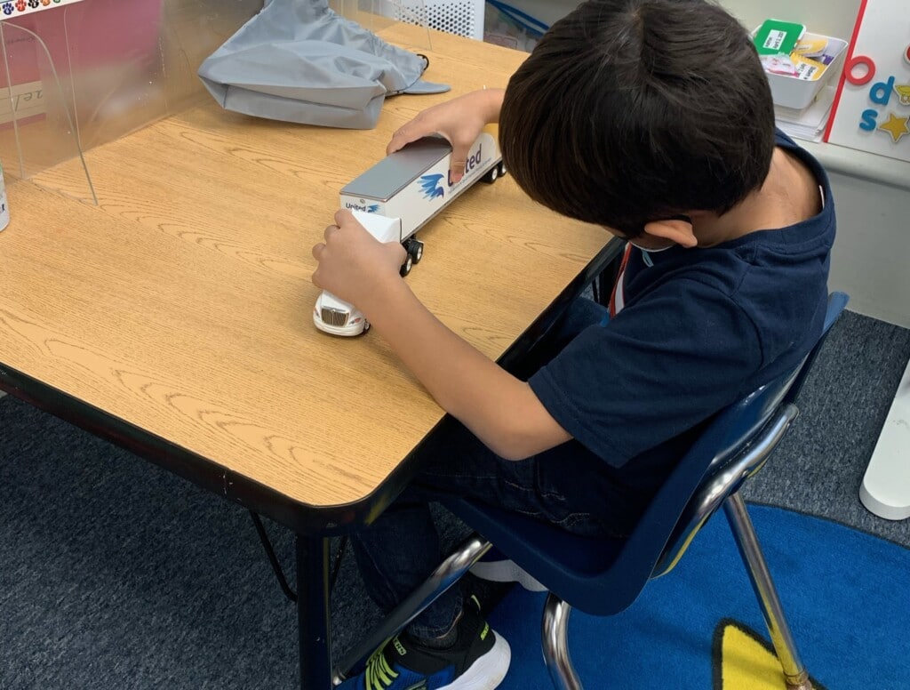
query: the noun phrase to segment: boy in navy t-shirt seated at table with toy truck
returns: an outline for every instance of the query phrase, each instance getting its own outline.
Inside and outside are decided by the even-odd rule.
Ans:
[[[385,609],[440,563],[433,496],[628,534],[704,422],[793,368],[824,319],[830,188],[775,135],[751,38],[722,9],[591,0],[552,26],[504,92],[428,109],[389,150],[440,132],[458,177],[468,144],[497,119],[503,161],[531,198],[629,245],[610,315],[580,301],[568,344],[520,381],[420,304],[399,278],[398,244],[379,244],[345,211],[326,228],[313,281],[357,304],[460,422],[431,441],[399,501],[352,535]],[[509,656],[452,588],[342,687],[494,688]]]

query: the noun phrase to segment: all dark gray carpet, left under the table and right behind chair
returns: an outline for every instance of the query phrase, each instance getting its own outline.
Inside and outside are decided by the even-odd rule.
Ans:
[[[910,331],[845,313],[747,498],[910,546],[857,499],[908,357]],[[294,609],[246,512],[9,396],[0,429],[0,688],[296,686]],[[347,557],[337,649],[376,616]]]

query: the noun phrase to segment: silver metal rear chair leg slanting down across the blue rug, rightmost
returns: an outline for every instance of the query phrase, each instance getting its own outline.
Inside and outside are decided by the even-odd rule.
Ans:
[[[739,547],[755,596],[762,608],[764,623],[768,626],[774,651],[784,669],[788,690],[813,690],[809,674],[796,652],[793,634],[790,633],[790,627],[784,617],[784,608],[777,596],[762,548],[755,535],[755,528],[739,492],[732,493],[723,502],[723,512],[726,513],[733,539]]]

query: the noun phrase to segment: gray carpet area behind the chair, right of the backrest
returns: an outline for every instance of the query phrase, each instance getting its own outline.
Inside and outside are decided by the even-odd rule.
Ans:
[[[763,471],[745,485],[745,498],[910,547],[910,520],[883,520],[858,498],[908,359],[910,330],[844,312],[806,381],[800,416]]]

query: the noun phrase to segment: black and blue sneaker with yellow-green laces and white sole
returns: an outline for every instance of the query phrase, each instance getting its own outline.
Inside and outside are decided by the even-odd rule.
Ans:
[[[458,625],[458,641],[448,649],[423,646],[407,633],[396,635],[339,690],[493,690],[509,670],[509,643],[471,605],[464,607]]]

